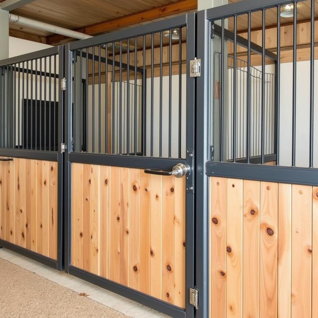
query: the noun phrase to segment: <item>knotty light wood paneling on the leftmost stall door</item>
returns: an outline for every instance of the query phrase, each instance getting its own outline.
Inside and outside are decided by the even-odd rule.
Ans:
[[[57,162],[0,162],[0,238],[57,259]]]

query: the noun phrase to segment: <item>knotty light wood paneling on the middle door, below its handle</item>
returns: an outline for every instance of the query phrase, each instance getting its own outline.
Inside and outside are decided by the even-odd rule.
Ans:
[[[71,224],[73,266],[185,307],[185,178],[72,163]]]

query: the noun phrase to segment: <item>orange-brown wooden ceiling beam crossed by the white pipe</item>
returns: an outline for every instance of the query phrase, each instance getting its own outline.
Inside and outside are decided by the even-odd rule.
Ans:
[[[158,19],[160,17],[168,17],[173,14],[183,13],[192,10],[197,10],[197,0],[182,0],[166,4],[154,9],[130,14],[114,20],[89,25],[80,29],[76,29],[75,31],[83,32],[89,35],[96,35],[114,29],[119,29],[125,26],[151,21],[154,19]],[[50,45],[56,45],[67,39],[69,38],[57,34],[47,37],[47,43]]]

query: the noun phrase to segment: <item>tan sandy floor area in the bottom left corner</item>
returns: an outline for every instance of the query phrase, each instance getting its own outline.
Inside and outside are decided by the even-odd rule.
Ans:
[[[125,318],[114,309],[0,259],[1,318]]]

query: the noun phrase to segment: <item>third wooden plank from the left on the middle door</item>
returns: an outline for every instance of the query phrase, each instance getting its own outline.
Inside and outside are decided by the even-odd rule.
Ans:
[[[90,247],[90,272],[99,275],[100,265],[100,166],[91,165],[91,247]]]

